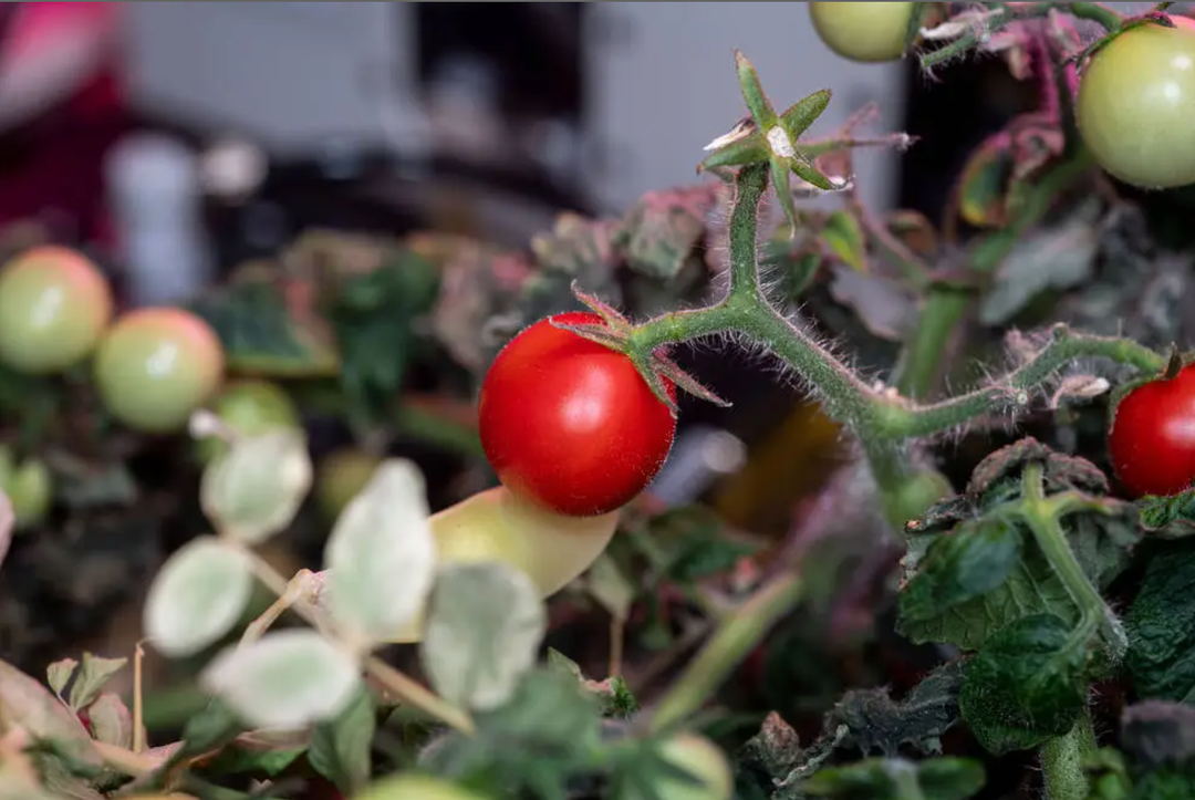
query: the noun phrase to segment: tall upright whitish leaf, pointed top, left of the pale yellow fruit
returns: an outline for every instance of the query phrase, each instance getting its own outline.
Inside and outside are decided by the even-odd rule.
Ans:
[[[324,551],[329,607],[362,643],[407,625],[431,588],[436,544],[418,468],[388,459],[344,508]]]

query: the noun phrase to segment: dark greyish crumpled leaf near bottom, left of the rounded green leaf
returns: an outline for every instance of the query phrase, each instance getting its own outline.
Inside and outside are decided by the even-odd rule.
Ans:
[[[895,757],[911,745],[924,753],[942,752],[942,735],[958,721],[958,688],[962,672],[946,664],[927,674],[908,695],[894,701],[887,689],[846,692],[826,715],[823,728],[845,725],[842,745],[854,745],[863,755],[878,750]]]

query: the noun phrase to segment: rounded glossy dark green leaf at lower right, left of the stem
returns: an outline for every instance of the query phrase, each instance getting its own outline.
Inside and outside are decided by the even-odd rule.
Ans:
[[[972,733],[1000,756],[1066,734],[1086,708],[1087,645],[1054,615],[998,630],[963,667],[958,708]]]

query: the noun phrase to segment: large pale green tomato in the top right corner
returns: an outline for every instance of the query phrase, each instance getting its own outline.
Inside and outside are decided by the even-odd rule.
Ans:
[[[1101,48],[1079,81],[1079,132],[1124,183],[1195,183],[1195,25],[1146,24]]]

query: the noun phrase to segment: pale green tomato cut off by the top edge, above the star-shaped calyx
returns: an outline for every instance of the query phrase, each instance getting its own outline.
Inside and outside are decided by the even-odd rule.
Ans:
[[[817,36],[851,61],[895,61],[905,55],[905,37],[915,2],[810,2]]]

